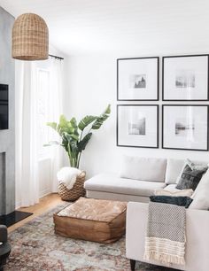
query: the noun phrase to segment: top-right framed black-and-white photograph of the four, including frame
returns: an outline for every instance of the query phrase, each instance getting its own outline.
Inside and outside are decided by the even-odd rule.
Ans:
[[[163,100],[208,100],[208,55],[163,57]]]

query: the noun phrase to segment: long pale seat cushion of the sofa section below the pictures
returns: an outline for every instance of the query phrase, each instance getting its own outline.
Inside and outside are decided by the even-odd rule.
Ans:
[[[98,174],[84,183],[86,190],[150,197],[163,189],[165,182],[146,182],[120,178],[117,174]]]

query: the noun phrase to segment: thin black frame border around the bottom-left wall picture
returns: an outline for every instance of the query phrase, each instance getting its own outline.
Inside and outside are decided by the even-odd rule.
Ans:
[[[129,147],[129,148],[149,148],[149,149],[159,149],[159,105],[116,105],[116,145],[118,147]],[[144,145],[130,145],[130,144],[120,144],[119,143],[119,109],[120,107],[156,107],[156,146],[144,146]]]

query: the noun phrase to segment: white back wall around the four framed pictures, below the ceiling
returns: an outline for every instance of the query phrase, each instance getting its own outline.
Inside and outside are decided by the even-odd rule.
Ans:
[[[209,39],[208,39],[209,41]],[[160,49],[159,49],[160,51]],[[205,50],[165,51],[165,55],[208,53]],[[65,96],[65,112],[68,118],[75,116],[78,120],[86,114],[99,114],[106,105],[112,105],[109,120],[99,130],[94,131],[87,149],[81,158],[81,168],[88,176],[100,172],[118,172],[123,154],[209,160],[208,151],[174,151],[161,149],[161,106],[159,107],[159,149],[143,149],[116,146],[116,105],[132,104],[133,102],[116,101],[116,59],[126,57],[141,57],[145,54],[128,52],[126,55],[89,55],[74,56],[68,59],[68,87]],[[158,50],[147,51],[147,56],[160,56]],[[161,58],[160,58],[160,99],[161,99]],[[162,102],[157,102],[159,105]],[[133,104],[155,104],[155,102],[134,102]],[[164,104],[168,104],[165,102]],[[173,103],[178,104],[178,103]],[[180,104],[180,103],[179,103]],[[183,104],[183,103],[182,103]],[[191,104],[191,103],[190,103]],[[197,104],[197,103],[194,103]],[[209,104],[204,102],[203,104]]]

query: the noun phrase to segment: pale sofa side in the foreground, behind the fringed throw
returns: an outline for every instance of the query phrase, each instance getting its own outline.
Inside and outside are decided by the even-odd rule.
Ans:
[[[129,202],[127,208],[126,256],[144,261],[144,243],[147,228],[148,204]],[[186,271],[207,271],[209,267],[209,211],[187,209],[186,265],[171,267]],[[162,265],[157,261],[151,264]]]

